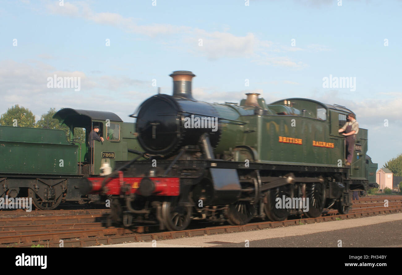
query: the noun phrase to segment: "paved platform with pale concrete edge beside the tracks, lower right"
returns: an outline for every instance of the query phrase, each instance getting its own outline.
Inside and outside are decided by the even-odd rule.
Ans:
[[[273,229],[93,247],[402,247],[402,213]]]

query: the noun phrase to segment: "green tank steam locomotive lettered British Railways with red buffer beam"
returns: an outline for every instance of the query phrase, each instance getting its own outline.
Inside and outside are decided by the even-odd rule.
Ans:
[[[359,129],[345,166],[338,129],[352,113],[346,107],[302,98],[267,105],[256,93],[240,104],[206,103],[192,96],[192,72],[170,76],[173,95],[156,94],[130,116],[144,152],[80,185],[83,194],[113,198],[114,222],[177,231],[192,219],[242,225],[330,208],[348,213],[351,191],[368,189],[367,129]],[[281,199],[308,207],[281,207]]]

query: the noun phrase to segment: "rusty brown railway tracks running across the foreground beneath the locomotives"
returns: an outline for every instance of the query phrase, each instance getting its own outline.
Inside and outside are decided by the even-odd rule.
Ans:
[[[331,210],[318,218],[297,218],[283,222],[255,222],[244,226],[208,226],[201,229],[198,225],[195,226],[196,228],[179,232],[159,232],[159,227],[156,225],[137,226],[130,229],[106,228],[105,222],[107,214],[110,212],[109,209],[37,211],[29,216],[23,216],[27,215],[24,213],[25,211],[4,211],[0,214],[2,216],[0,217],[2,226],[0,247],[30,247],[37,244],[59,247],[60,240],[63,240],[64,247],[94,246],[240,232],[402,212],[402,196],[379,197],[381,198],[365,199],[366,203],[363,203],[363,200],[353,201],[351,211],[344,215],[340,215],[336,210]],[[388,207],[384,207],[384,199],[388,199]],[[194,225],[192,226],[194,227]],[[205,227],[205,223],[203,227]]]

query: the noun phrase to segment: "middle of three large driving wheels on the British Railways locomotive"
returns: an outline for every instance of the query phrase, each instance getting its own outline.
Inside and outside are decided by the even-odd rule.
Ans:
[[[265,198],[267,201],[264,204],[264,210],[267,217],[273,222],[281,222],[286,220],[290,213],[290,209],[276,208],[276,198],[283,199],[283,195],[285,195],[285,197],[293,197],[291,188],[289,188],[287,185],[270,189],[266,193]]]

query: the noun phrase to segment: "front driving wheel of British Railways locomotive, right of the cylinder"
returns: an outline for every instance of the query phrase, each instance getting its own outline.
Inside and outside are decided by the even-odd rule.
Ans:
[[[226,218],[232,225],[243,225],[250,222],[254,211],[255,205],[249,201],[238,201],[229,206]]]

